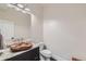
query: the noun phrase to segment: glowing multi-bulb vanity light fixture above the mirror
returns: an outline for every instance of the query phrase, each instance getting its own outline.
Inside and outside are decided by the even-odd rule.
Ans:
[[[20,3],[9,3],[8,7],[14,8],[16,11],[21,11],[23,13],[29,14],[30,11],[26,5]]]

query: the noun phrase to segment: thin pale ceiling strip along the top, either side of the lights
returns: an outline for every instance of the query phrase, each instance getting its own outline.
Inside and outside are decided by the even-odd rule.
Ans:
[[[27,8],[32,7],[86,7],[86,3],[21,3]],[[10,9],[7,3],[0,3],[0,11]]]

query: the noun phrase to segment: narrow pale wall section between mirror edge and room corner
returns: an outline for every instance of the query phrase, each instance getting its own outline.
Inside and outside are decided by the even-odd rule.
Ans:
[[[38,4],[28,4],[28,8],[30,9],[32,12],[32,23],[30,23],[32,39],[36,42],[40,42],[44,40],[42,37],[44,8]]]

